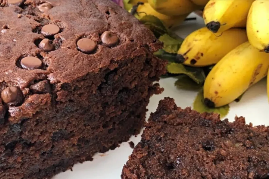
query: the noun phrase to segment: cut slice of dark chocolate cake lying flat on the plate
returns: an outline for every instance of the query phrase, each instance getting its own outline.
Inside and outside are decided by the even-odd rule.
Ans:
[[[246,125],[243,117],[221,121],[159,102],[124,166],[123,179],[269,178],[269,128]]]

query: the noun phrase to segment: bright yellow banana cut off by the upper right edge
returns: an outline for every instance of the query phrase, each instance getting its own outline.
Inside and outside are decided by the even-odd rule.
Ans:
[[[269,1],[256,0],[248,12],[247,34],[251,45],[269,53]]]

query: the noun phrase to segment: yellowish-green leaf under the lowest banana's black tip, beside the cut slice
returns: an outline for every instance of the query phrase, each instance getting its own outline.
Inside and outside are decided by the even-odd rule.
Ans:
[[[203,96],[203,90],[200,90],[194,100],[193,103],[193,109],[198,111],[199,113],[208,112],[208,113],[219,113],[220,118],[225,117],[229,113],[229,105],[225,105],[218,108],[209,108],[206,105],[204,105],[204,96]]]

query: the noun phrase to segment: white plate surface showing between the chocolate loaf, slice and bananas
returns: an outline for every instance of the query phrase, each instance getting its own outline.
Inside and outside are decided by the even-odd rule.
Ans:
[[[178,35],[185,38],[190,32],[203,27],[204,23],[201,17],[191,14],[191,17],[197,17],[196,21],[185,22],[179,27]],[[174,86],[176,79],[167,78],[161,79],[160,85],[165,90],[160,95],[154,95],[150,99],[148,105],[147,118],[151,112],[154,112],[157,108],[159,100],[164,97],[174,98],[176,104],[182,108],[192,106],[192,102],[196,96],[196,92],[190,92],[185,90],[178,90]],[[242,97],[240,102],[233,102],[230,105],[229,114],[226,116],[230,121],[234,120],[235,115],[244,116],[246,123],[252,122],[254,125],[269,125],[268,120],[268,101],[266,95],[266,80],[262,80],[253,87],[251,87]],[[133,141],[136,145],[141,139],[141,136],[131,137],[130,141]],[[58,174],[53,179],[120,179],[121,170],[128,156],[132,153],[127,142],[122,143],[119,148],[110,150],[105,154],[96,154],[92,162],[84,162],[82,164],[76,164],[73,167],[73,171],[66,171]]]

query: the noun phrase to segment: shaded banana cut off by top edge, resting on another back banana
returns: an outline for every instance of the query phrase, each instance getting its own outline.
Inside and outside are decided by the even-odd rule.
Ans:
[[[167,16],[189,14],[199,7],[190,0],[148,0],[151,7]]]

